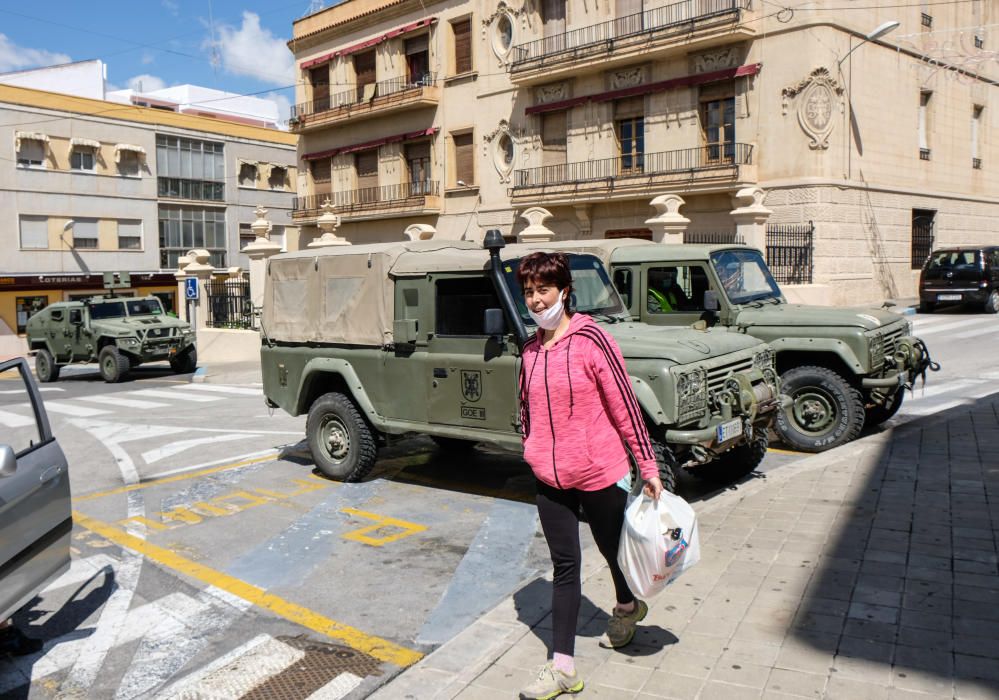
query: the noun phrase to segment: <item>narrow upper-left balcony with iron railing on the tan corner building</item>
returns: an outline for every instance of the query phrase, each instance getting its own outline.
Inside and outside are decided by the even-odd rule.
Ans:
[[[392,78],[294,105],[288,128],[300,134],[348,119],[434,106],[439,101],[440,87],[433,73],[419,78]]]

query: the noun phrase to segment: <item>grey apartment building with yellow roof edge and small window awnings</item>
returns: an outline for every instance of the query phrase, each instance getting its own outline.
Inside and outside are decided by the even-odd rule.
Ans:
[[[156,294],[177,309],[177,259],[206,248],[225,271],[264,206],[272,236],[290,217],[297,137],[172,110],[0,84],[0,355],[16,354],[28,317],[55,301]]]

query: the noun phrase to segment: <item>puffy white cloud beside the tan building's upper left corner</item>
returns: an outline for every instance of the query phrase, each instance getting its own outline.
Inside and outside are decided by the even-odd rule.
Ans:
[[[241,27],[222,25],[218,34],[217,44],[227,73],[256,78],[271,85],[294,82],[295,60],[291,51],[284,39],[260,26],[259,15],[243,12]],[[210,47],[211,43],[208,45]]]

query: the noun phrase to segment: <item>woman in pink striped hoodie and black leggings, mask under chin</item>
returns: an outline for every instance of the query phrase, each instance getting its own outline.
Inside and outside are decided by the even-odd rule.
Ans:
[[[573,662],[582,590],[580,509],[610,567],[617,597],[601,645],[623,647],[648,612],[617,563],[627,500],[617,484],[629,472],[629,451],[645,493],[658,499],[663,486],[621,350],[589,316],[566,308],[572,293],[568,258],[528,255],[517,281],[538,324],[524,345],[520,374],[524,459],[537,478],[538,515],[554,567],[554,655],[520,697],[547,700],[583,689]]]

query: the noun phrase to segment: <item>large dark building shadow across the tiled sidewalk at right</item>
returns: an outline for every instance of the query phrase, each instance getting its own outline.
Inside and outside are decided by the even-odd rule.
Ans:
[[[834,675],[995,697],[999,395],[888,431],[857,459],[811,492],[806,511],[835,519],[793,635],[835,655]]]

